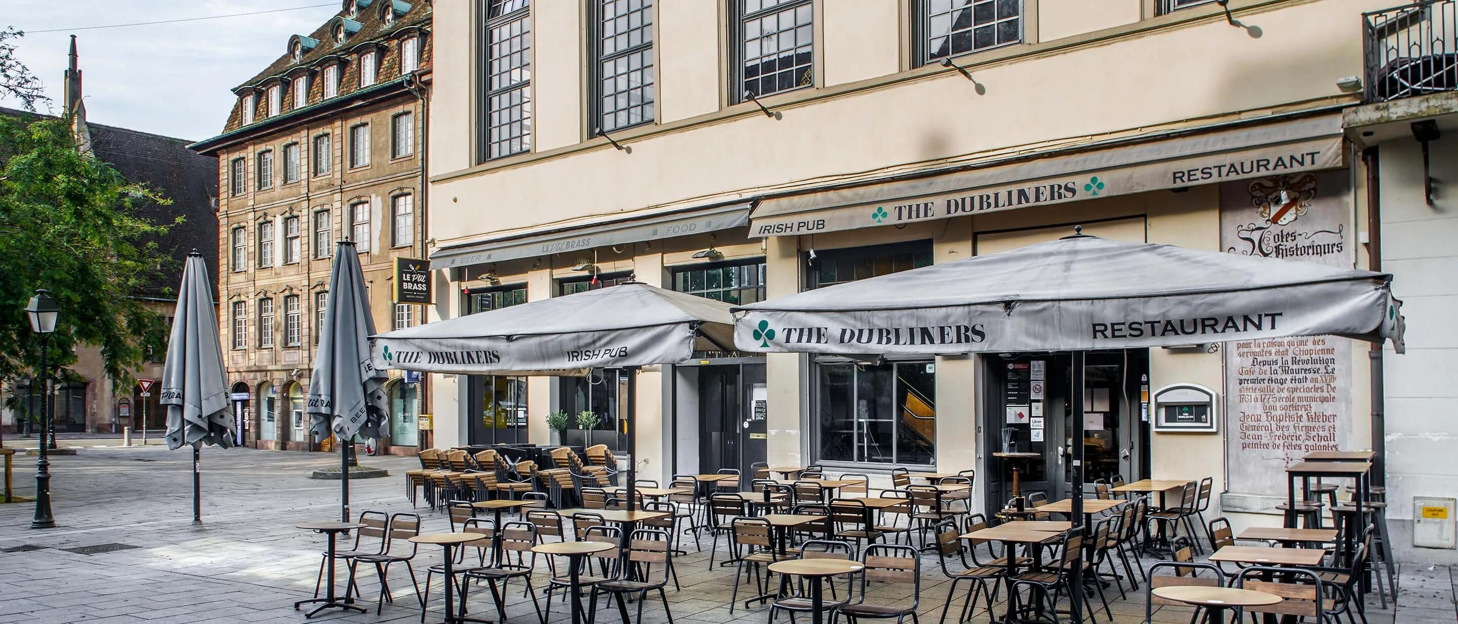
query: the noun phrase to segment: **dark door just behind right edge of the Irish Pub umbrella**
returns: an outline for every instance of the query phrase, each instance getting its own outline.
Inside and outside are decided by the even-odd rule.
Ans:
[[[767,405],[763,363],[698,366],[698,469],[751,474],[765,458]]]

